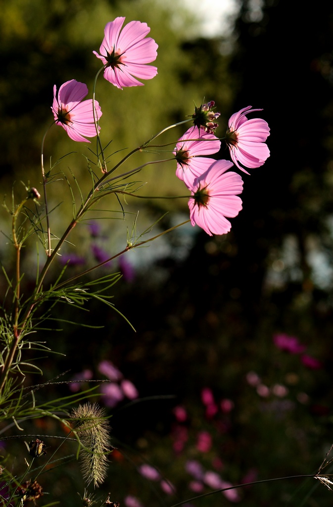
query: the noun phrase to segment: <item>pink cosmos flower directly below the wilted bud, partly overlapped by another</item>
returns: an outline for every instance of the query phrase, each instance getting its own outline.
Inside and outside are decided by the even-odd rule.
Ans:
[[[221,142],[203,129],[190,127],[176,144],[173,152],[177,161],[176,176],[189,187],[194,177],[205,172],[214,159],[202,157],[218,152]]]

